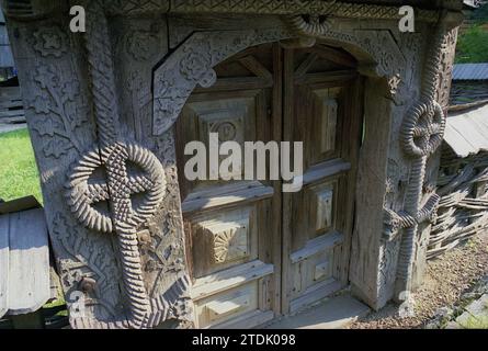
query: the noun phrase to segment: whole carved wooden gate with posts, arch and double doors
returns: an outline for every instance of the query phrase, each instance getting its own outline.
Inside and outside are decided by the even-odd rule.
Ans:
[[[24,2],[2,1],[73,328],[250,328],[348,287],[409,306],[461,0],[72,2],[86,33]],[[209,132],[303,141],[304,186],[188,180]]]

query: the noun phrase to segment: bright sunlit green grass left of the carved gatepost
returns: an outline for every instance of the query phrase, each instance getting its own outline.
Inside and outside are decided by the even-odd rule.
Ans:
[[[43,201],[29,132],[0,134],[0,199],[9,201],[27,195]]]

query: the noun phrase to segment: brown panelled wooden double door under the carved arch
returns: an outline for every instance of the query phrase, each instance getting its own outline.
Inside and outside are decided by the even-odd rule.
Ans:
[[[217,82],[188,101],[175,134],[196,327],[263,325],[348,284],[362,105],[354,67],[325,45],[261,45],[217,66]],[[303,141],[302,190],[245,180],[243,166],[189,181],[185,145],[208,145],[209,133],[242,149]]]

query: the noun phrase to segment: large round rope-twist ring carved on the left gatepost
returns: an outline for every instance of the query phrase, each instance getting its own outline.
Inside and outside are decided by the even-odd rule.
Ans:
[[[106,166],[102,163],[100,155],[109,155],[110,158],[114,150],[122,150],[116,178],[125,191],[124,195],[132,202],[127,218],[132,225],[147,223],[166,193],[164,170],[150,150],[136,144],[118,143],[117,147],[107,147],[101,154],[99,149],[87,152],[72,167],[66,195],[78,220],[86,227],[102,233],[112,233],[114,225],[106,211],[107,206],[101,204],[110,203],[112,199],[104,177]],[[121,189],[116,190],[120,191]],[[136,195],[137,202],[133,201]]]

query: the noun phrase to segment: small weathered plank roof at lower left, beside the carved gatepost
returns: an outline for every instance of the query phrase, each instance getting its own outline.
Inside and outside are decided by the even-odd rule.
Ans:
[[[42,208],[0,216],[0,316],[29,314],[50,298],[49,248]]]

